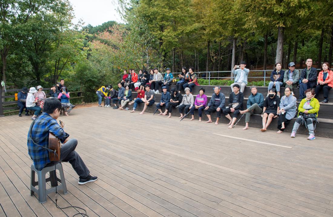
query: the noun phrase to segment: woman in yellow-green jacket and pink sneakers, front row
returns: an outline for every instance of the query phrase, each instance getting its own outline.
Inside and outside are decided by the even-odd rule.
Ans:
[[[294,123],[294,127],[291,131],[290,137],[296,136],[296,131],[302,123],[306,124],[306,128],[309,130],[309,137],[307,139],[313,140],[314,137],[314,126],[313,121],[317,121],[318,111],[319,111],[319,101],[314,98],[314,89],[307,89],[305,91],[305,96],[298,106],[298,116]]]

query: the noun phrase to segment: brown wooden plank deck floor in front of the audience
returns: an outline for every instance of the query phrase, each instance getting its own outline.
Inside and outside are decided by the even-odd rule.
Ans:
[[[78,185],[64,163],[59,206],[90,217],[333,216],[332,139],[138,113],[91,107],[60,117],[99,179]],[[54,193],[44,204],[30,196],[30,123],[0,117],[0,217],[73,216]]]

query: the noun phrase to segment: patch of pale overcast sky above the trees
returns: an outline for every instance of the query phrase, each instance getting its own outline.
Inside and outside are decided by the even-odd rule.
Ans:
[[[118,1],[115,0],[70,0],[73,5],[75,18],[74,24],[82,19],[84,25],[98,26],[110,20],[124,23],[118,12]]]

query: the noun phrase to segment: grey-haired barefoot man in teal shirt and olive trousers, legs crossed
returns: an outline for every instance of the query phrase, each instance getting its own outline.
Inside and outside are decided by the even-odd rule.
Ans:
[[[245,114],[245,127],[243,130],[249,128],[249,121],[250,116],[252,114],[261,114],[262,108],[264,106],[264,96],[262,94],[257,92],[257,86],[251,86],[251,95],[249,96],[247,103],[246,103],[246,109],[243,111],[239,111],[241,114]]]

